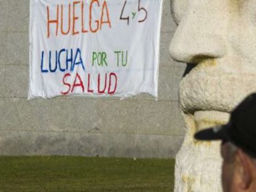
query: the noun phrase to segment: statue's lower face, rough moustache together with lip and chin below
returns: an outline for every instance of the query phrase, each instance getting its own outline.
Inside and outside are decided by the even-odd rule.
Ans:
[[[196,141],[194,133],[227,123],[229,112],[256,90],[254,71],[225,72],[217,65],[218,61],[197,65],[181,81],[179,107],[186,136],[176,156],[176,192],[221,191],[220,142]]]

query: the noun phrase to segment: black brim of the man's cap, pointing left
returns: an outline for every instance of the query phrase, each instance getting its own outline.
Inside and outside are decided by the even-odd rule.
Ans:
[[[194,138],[197,140],[228,140],[228,125],[210,127],[195,133]]]

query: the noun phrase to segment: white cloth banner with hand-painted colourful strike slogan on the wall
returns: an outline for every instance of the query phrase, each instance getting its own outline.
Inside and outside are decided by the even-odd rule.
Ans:
[[[163,0],[30,0],[28,99],[158,95]]]

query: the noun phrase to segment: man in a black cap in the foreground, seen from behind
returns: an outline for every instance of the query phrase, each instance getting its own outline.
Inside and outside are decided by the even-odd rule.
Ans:
[[[231,112],[228,124],[198,131],[194,137],[222,141],[224,192],[256,191],[256,93]]]

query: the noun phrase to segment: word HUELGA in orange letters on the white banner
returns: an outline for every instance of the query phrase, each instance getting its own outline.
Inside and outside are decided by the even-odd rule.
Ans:
[[[92,0],[88,6],[83,1],[74,1],[69,3],[68,7],[63,4],[56,5],[55,14],[50,15],[49,6],[47,6],[47,37],[49,38],[50,27],[55,28],[55,35],[78,35],[79,33],[96,33],[101,30],[103,25],[108,25],[111,28],[111,20],[109,18],[108,4],[103,1],[100,4],[98,0]],[[100,14],[92,14],[94,12]],[[53,13],[53,10],[51,10]],[[55,15],[55,16],[53,16]],[[64,15],[67,17],[64,17]],[[100,15],[100,17],[93,17],[93,15]],[[67,18],[67,20],[64,20]]]

